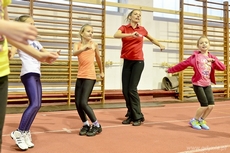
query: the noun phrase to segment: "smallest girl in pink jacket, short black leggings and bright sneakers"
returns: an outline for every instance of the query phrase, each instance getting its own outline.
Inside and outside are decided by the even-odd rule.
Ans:
[[[199,50],[194,51],[189,58],[169,68],[166,72],[175,73],[186,69],[188,66],[193,67],[194,75],[192,77],[192,84],[197,99],[200,102],[200,107],[189,124],[194,129],[209,130],[205,118],[211,113],[214,107],[211,83],[216,84],[215,70],[224,71],[226,67],[216,56],[209,53],[210,41],[206,36],[201,36],[198,39],[197,47]]]

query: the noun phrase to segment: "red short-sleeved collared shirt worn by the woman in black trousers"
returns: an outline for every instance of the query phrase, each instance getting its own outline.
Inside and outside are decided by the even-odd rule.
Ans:
[[[119,30],[121,30],[122,33],[133,33],[136,31],[140,34],[140,37],[122,38],[121,58],[128,60],[144,60],[142,47],[144,37],[148,35],[146,29],[139,25],[133,29],[133,27],[128,24],[122,25]]]

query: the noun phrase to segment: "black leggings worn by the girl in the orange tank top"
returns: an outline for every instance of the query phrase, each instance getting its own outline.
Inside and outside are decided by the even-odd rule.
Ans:
[[[88,105],[89,96],[93,90],[96,80],[78,78],[75,85],[75,105],[82,122],[87,121],[86,115],[91,122],[95,122],[96,116]]]

